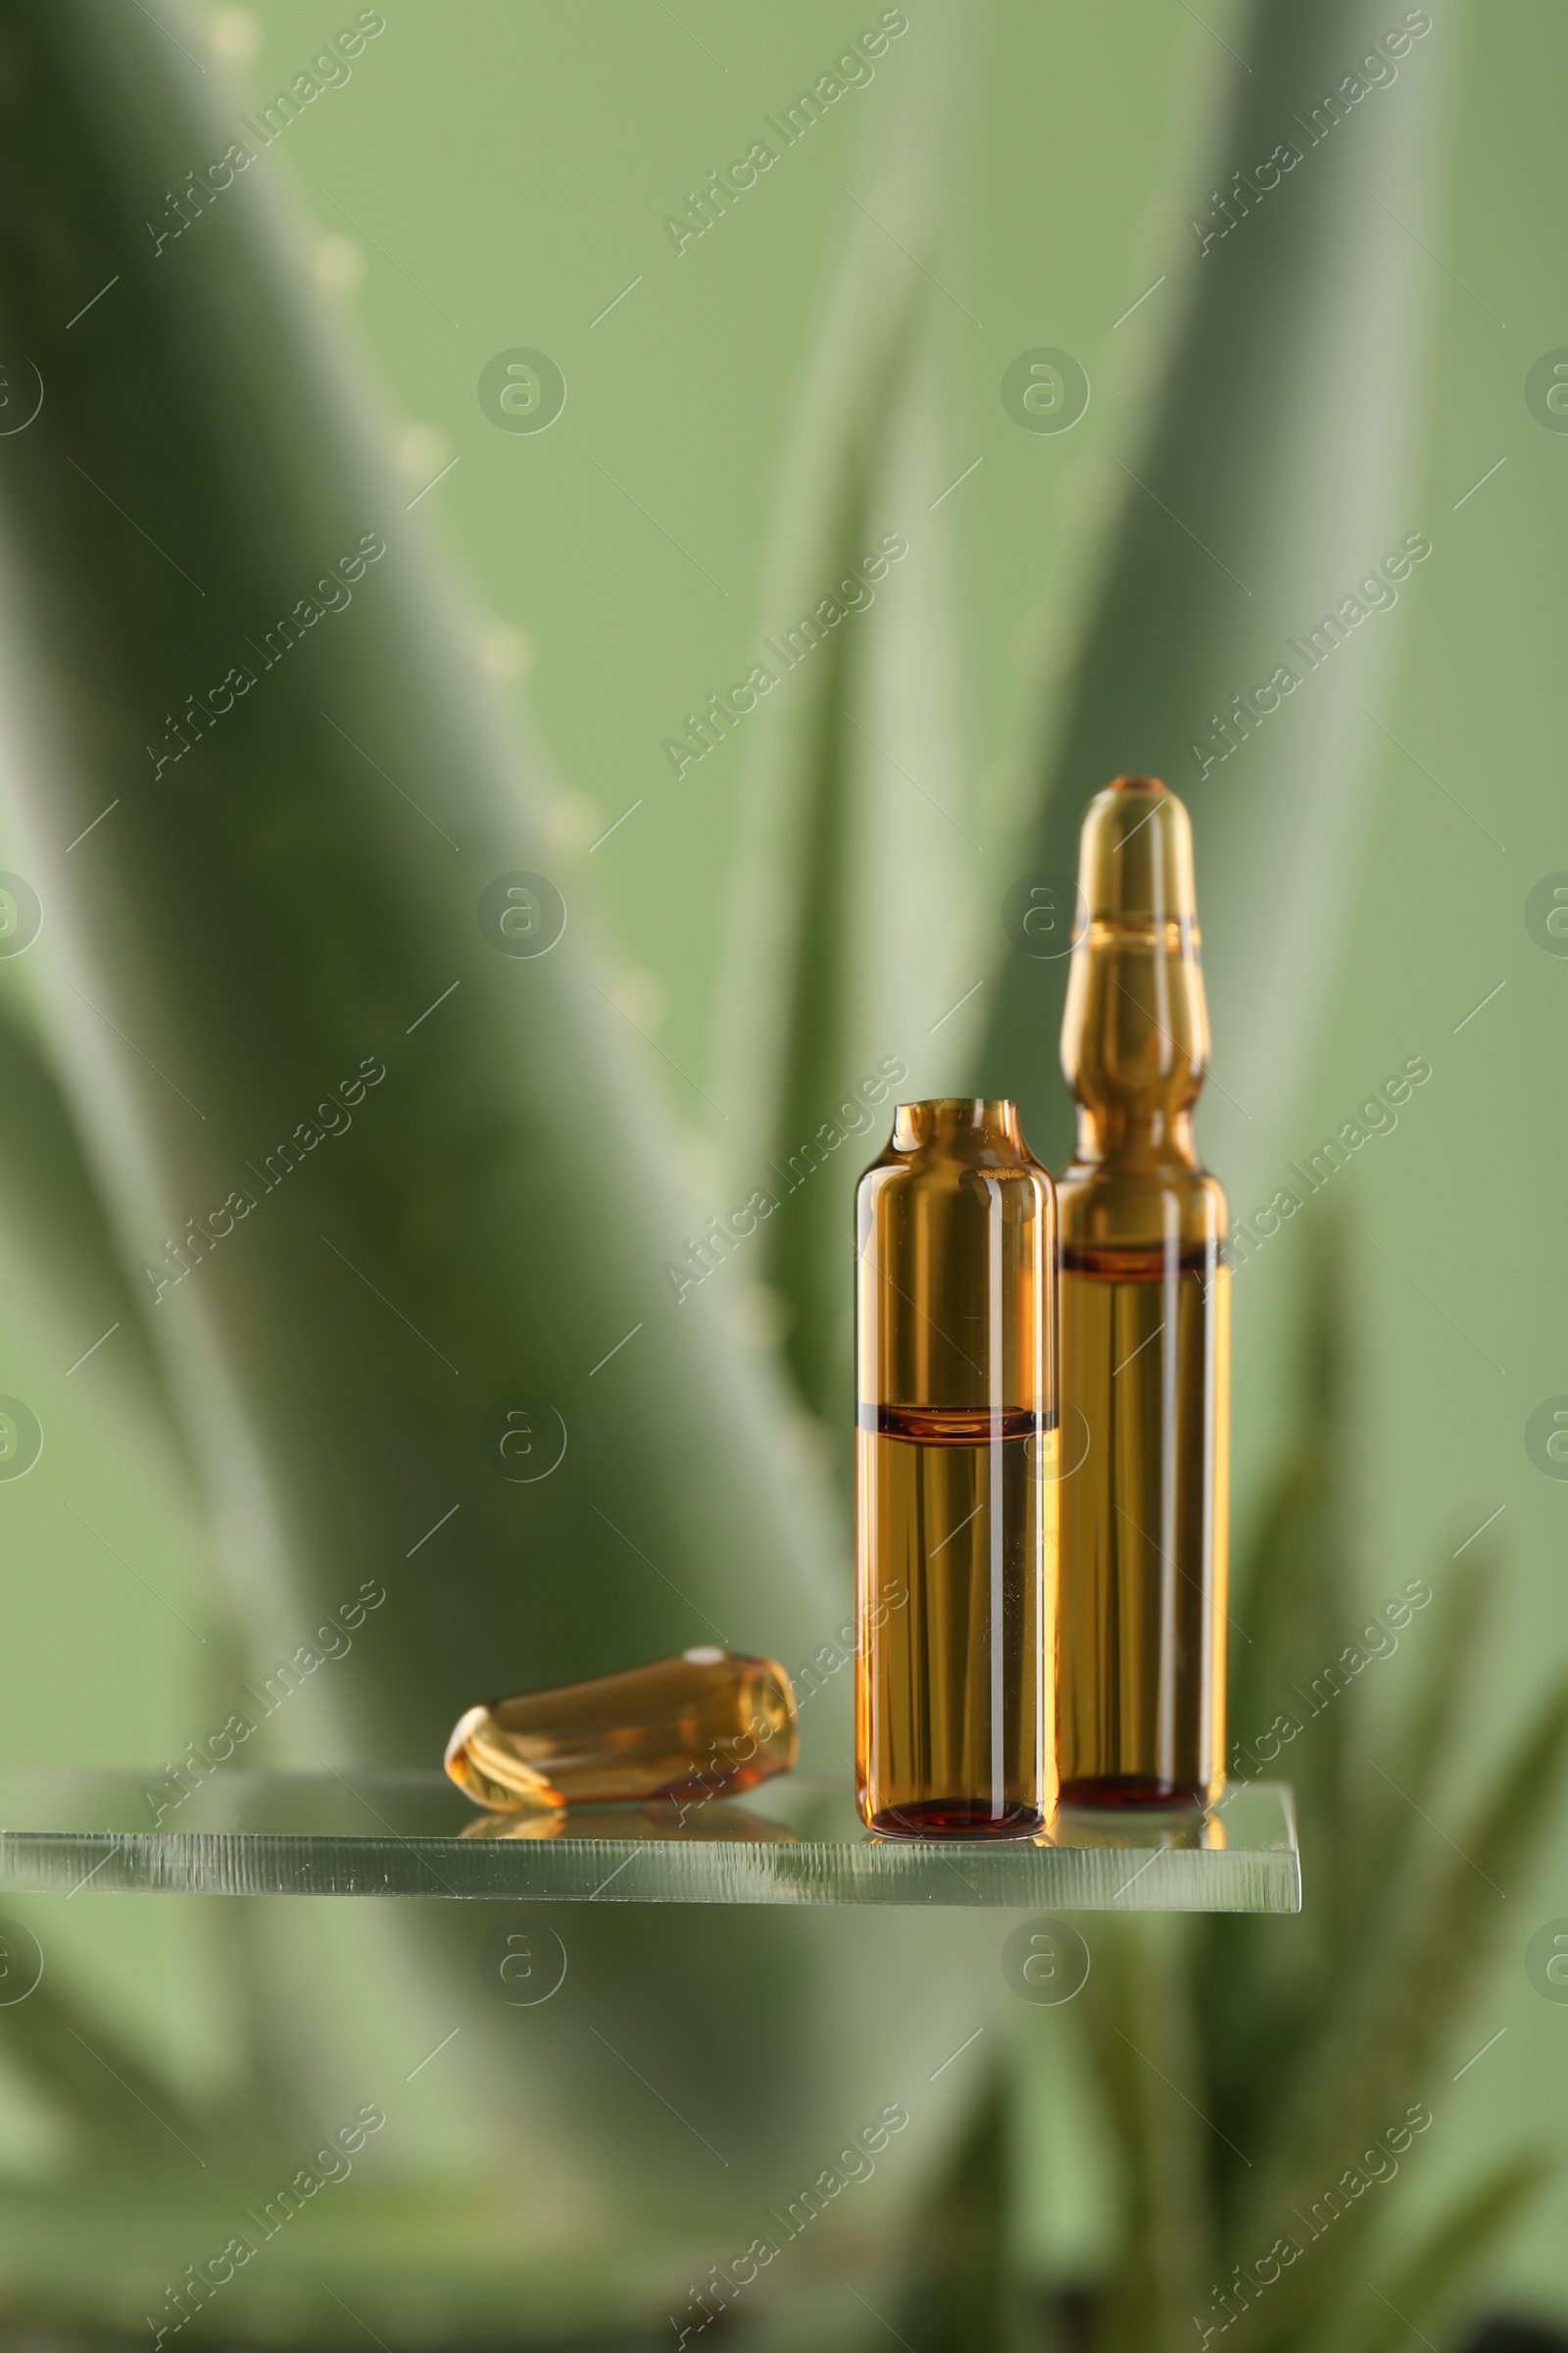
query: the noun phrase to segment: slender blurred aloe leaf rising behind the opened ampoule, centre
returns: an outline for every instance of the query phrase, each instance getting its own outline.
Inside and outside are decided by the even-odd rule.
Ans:
[[[849,1400],[849,1202],[900,1089],[877,1082],[877,1064],[907,1066],[914,1033],[924,1040],[943,1009],[912,1012],[931,965],[947,960],[931,918],[950,845],[971,854],[940,816],[943,800],[954,807],[952,772],[931,774],[933,751],[947,767],[954,718],[945,518],[926,513],[943,456],[922,344],[922,254],[943,200],[961,26],[959,9],[924,24],[898,64],[896,111],[865,202],[851,200],[802,393],[764,586],[764,631],[792,659],[745,769],[731,976],[719,993],[736,1174],[771,1162],[783,1179],[764,1179],[783,1191],[764,1228],[764,1273],[788,1301],[799,1391],[835,1424]],[[891,562],[877,553],[886,534],[907,548]],[[825,624],[825,600],[842,619]],[[818,642],[799,654],[809,635]],[[860,1080],[882,1087],[877,1108],[858,1096]]]

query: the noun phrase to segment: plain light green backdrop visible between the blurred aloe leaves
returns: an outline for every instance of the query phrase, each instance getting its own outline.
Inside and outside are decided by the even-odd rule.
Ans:
[[[216,14],[237,59],[252,28],[261,38],[242,64],[247,104],[353,19],[315,0]],[[966,805],[997,812],[983,842],[997,901],[1016,871],[1004,812],[1081,626],[1110,456],[1135,456],[1128,435],[1171,325],[1168,287],[1117,320],[1185,235],[1182,193],[1225,66],[1218,0],[1206,14],[1215,31],[1168,0],[1093,12],[997,0],[971,16],[933,320],[950,475],[983,459],[943,513],[959,581]],[[1432,282],[1432,329],[1408,438],[1420,452],[1410,527],[1429,532],[1434,555],[1399,614],[1378,621],[1396,631],[1396,685],[1378,715],[1413,758],[1378,739],[1378,788],[1342,875],[1342,932],[1324,941],[1328,1014],[1312,1066],[1295,1073],[1295,1132],[1312,1148],[1399,1061],[1425,1054],[1434,1066],[1399,1132],[1373,1139],[1338,1179],[1356,1242],[1354,1537],[1371,1602],[1410,1574],[1441,1591],[1455,1546],[1502,1506],[1486,1539],[1500,1607],[1476,1661],[1502,1744],[1563,1654],[1568,1532],[1568,1485],[1523,1452],[1530,1409],[1568,1391],[1568,960],[1542,953],[1523,925],[1535,880],[1568,868],[1568,435],[1542,431],[1523,405],[1528,365],[1568,344],[1568,19],[1549,0],[1488,0],[1469,31],[1432,14],[1434,49],[1450,45],[1453,115],[1439,247],[1427,256],[1410,245],[1410,268]],[[651,1071],[696,1139],[708,1113],[689,1080],[712,1085],[743,767],[731,744],[677,784],[661,739],[790,619],[766,607],[764,576],[792,412],[867,141],[910,40],[893,42],[872,87],[851,89],[710,235],[677,256],[661,219],[875,16],[872,5],[825,0],[682,0],[679,19],[658,0],[386,0],[386,33],[353,80],[324,92],[275,148],[322,299],[348,313],[381,386],[409,496],[458,461],[423,511],[473,584],[475,631],[496,664],[529,664],[517,708],[559,791],[574,911],[599,929],[628,1014],[661,1049],[649,1052]],[[548,351],[569,384],[564,414],[541,435],[496,431],[477,402],[484,362],[520,344]],[[1070,435],[1018,433],[1001,412],[1001,372],[1034,344],[1070,348],[1093,381]],[[1352,414],[1354,381],[1342,398]],[[1232,762],[1237,795],[1260,760],[1267,732]],[[440,791],[440,779],[425,784]],[[1053,1040],[1039,1049],[1051,1056]],[[1225,1080],[1225,1035],[1215,1075]],[[1302,1252],[1281,1238],[1237,1287],[1241,1520],[1279,1431],[1274,1367],[1302,1273]],[[108,1428],[92,1367],[66,1386],[75,1348],[33,1313],[16,1271],[5,1297],[0,1386],[28,1395],[52,1433],[40,1468],[0,1499],[5,1755],[162,1758],[205,1720],[205,1694],[226,1673],[200,1532],[169,1546],[162,1482]],[[174,1609],[209,1635],[205,1649]],[[82,1668],[80,1624],[92,1624],[101,1668]],[[1408,1649],[1420,1640],[1418,1626]],[[1403,1666],[1401,1654],[1375,1668],[1389,1708]],[[1455,1772],[1465,1762],[1455,1755]],[[1432,1833],[1413,1821],[1413,1835]],[[1495,1901],[1476,1878],[1476,1918]],[[75,1908],[82,1969],[103,1998],[139,2012],[169,2047],[179,2019],[181,2064],[200,2066],[190,2026],[212,1998],[174,1906],[167,1922],[146,1904]],[[1507,2031],[1462,2082],[1429,2094],[1422,2202],[1493,2141],[1512,2146],[1521,2125],[1563,2141],[1568,2009],[1526,1986],[1521,1955],[1544,1918],[1568,1913],[1568,1835],[1540,1887],[1509,1897],[1507,1913],[1505,1967],[1474,2042]],[[110,1920],[113,1962],[101,1937]],[[221,2005],[207,2042],[221,2054]],[[1512,2240],[1509,2268],[1521,2292],[1568,2299],[1559,2193]]]

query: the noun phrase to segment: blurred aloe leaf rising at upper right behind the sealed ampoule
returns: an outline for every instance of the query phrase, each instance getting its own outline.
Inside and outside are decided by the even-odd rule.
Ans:
[[[1229,231],[1208,174],[1192,188],[1199,228],[1173,224],[1185,325],[1147,445],[1124,454],[1105,586],[1018,854],[1020,873],[1077,873],[1079,819],[1117,772],[1161,774],[1192,807],[1218,1071],[1204,1127],[1244,1209],[1295,1148],[1284,1120],[1349,906],[1375,741],[1363,711],[1396,624],[1371,612],[1316,668],[1291,640],[1305,642],[1403,534],[1427,527],[1432,560],[1443,560],[1443,534],[1408,487],[1425,301],[1410,235],[1427,235],[1460,21],[1443,16],[1392,87],[1354,108],[1340,101],[1347,120],[1314,139],[1312,108],[1354,73],[1373,31],[1361,0],[1258,0],[1234,19],[1239,66],[1213,188],[1227,191],[1234,172],[1255,184],[1281,144],[1300,160],[1244,198],[1246,216],[1232,193]],[[1406,586],[1418,581],[1420,567]],[[1396,593],[1375,591],[1382,602]],[[1248,736],[1237,727],[1225,758],[1218,736],[1206,765],[1215,715],[1279,666],[1300,682],[1272,715],[1244,720]],[[980,1064],[987,1092],[1020,1099],[1025,1132],[1053,1165],[1070,1141],[1056,1068],[1063,988],[1065,960],[1009,948]]]

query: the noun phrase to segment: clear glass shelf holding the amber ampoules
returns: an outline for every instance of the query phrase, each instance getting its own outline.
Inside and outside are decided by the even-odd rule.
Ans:
[[[870,1838],[846,1786],[795,1777],[684,1821],[665,1798],[541,1824],[477,1812],[444,1774],[219,1769],[179,1798],[158,1777],[40,1767],[0,1772],[0,1824],[7,1894],[1300,1911],[1284,1781],[980,1845]]]

